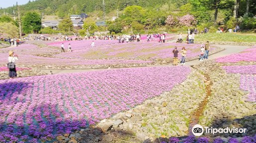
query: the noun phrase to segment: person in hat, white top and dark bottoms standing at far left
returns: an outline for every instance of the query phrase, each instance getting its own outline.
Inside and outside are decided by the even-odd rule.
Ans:
[[[13,51],[9,51],[8,68],[9,68],[9,78],[10,79],[17,77],[15,61],[18,59],[19,59],[18,55],[14,55]]]

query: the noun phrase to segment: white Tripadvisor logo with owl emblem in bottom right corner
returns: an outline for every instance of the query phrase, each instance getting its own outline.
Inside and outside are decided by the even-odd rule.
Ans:
[[[245,128],[212,128],[212,127],[202,127],[201,125],[197,124],[192,128],[192,133],[195,136],[200,136],[203,133],[211,133],[211,134],[215,134],[215,133],[245,133],[246,129]]]

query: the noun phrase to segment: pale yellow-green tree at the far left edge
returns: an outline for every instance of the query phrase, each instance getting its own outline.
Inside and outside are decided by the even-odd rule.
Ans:
[[[18,28],[11,22],[0,22],[0,35],[6,37],[18,37]]]

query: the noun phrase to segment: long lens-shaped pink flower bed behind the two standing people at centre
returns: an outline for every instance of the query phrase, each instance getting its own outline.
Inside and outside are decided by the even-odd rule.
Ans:
[[[177,46],[181,51],[182,47],[187,49],[187,58],[196,58],[200,52],[199,44],[183,43],[159,43],[159,42],[130,42],[105,45],[95,49],[84,49],[70,53],[60,53],[56,57],[60,58],[86,58],[86,59],[134,59],[134,60],[154,60],[171,59],[172,51]],[[215,50],[211,48],[211,51]],[[181,58],[181,55],[178,55]]]

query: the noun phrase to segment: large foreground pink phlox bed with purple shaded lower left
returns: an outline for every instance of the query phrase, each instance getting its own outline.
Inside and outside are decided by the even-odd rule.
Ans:
[[[41,139],[71,133],[172,90],[189,73],[145,67],[0,80],[0,129]]]

